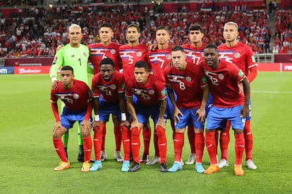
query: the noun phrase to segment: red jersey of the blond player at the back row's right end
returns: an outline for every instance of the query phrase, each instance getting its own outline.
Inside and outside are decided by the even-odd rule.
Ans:
[[[226,44],[218,46],[219,58],[237,65],[243,70],[245,75],[249,74],[251,67],[257,66],[255,56],[250,46],[238,42],[236,46],[231,48],[227,47]]]

